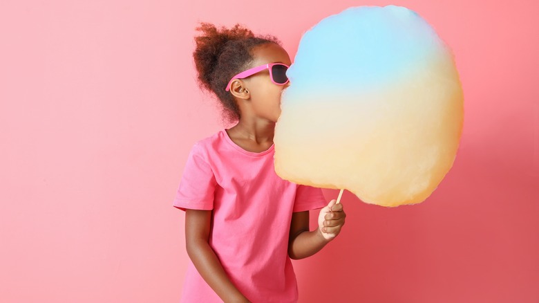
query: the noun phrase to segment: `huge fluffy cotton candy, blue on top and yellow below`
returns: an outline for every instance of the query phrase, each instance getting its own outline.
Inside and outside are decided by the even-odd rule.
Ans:
[[[366,203],[424,201],[451,169],[464,117],[451,50],[417,13],[361,6],[308,30],[287,71],[275,169]]]

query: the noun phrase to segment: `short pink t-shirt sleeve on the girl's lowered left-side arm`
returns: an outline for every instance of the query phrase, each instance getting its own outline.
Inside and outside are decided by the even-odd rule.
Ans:
[[[180,210],[212,210],[216,186],[216,178],[204,149],[196,143],[185,163],[172,205]]]

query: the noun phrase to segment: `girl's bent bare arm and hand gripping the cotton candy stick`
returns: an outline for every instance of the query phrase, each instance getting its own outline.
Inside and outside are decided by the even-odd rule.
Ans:
[[[292,259],[303,259],[319,252],[325,244],[339,235],[346,214],[341,203],[330,201],[319,214],[319,227],[309,231],[309,212],[292,213],[288,255]]]

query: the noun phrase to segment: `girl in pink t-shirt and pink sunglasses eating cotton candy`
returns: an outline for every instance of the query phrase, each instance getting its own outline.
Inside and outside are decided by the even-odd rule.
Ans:
[[[272,36],[239,25],[197,28],[200,85],[236,125],[198,141],[173,206],[185,210],[191,262],[184,302],[296,302],[292,259],[314,255],[339,235],[342,204],[274,170],[274,127],[290,57]],[[326,205],[327,204],[327,205]],[[309,210],[322,208],[309,229]]]

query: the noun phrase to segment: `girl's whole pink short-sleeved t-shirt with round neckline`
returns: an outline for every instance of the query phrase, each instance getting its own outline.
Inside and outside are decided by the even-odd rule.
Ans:
[[[173,206],[213,210],[209,245],[251,302],[296,302],[288,257],[292,212],[323,208],[319,188],[279,178],[274,146],[247,152],[223,129],[193,146]],[[182,302],[223,302],[189,261]]]

